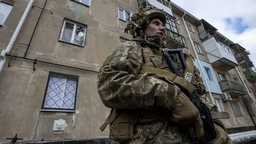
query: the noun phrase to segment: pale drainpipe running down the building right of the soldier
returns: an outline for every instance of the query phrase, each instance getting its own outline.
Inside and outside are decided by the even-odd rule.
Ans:
[[[195,46],[194,46],[193,40],[192,40],[192,38],[191,38],[191,36],[190,36],[190,33],[189,33],[189,31],[188,31],[186,22],[185,22],[185,20],[184,20],[184,16],[185,16],[185,15],[186,15],[186,12],[184,12],[184,15],[182,16],[182,20],[183,20],[183,22],[184,22],[184,24],[185,24],[185,28],[186,28],[186,31],[187,31],[187,33],[188,33],[190,42],[191,42],[192,47],[193,47],[193,50],[194,50],[194,52],[195,52],[195,54],[196,54],[196,58],[197,58],[197,60],[198,60],[199,68],[200,68],[200,71],[202,72],[202,75],[203,75],[202,77],[203,77],[203,80],[204,80],[204,84],[205,84],[205,86],[206,86],[206,88],[208,89],[208,92],[209,92],[209,94],[210,94],[210,100],[211,100],[212,104],[215,104],[214,99],[213,99],[213,97],[212,97],[212,93],[211,93],[210,88],[209,88],[209,85],[208,85],[208,82],[207,82],[207,80],[206,80],[206,78],[205,78],[205,76],[204,76],[204,71],[203,71],[203,68],[202,68],[200,59],[199,59],[199,57],[198,57],[198,55],[197,55],[196,48],[195,48]]]

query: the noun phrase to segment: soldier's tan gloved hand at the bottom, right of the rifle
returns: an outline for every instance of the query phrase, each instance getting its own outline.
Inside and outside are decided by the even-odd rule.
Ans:
[[[210,144],[232,144],[232,140],[222,127],[218,126],[217,124],[214,124],[214,127],[217,136],[210,142]]]

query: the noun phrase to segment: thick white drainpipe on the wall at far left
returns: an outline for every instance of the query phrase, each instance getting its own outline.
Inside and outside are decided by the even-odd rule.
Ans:
[[[16,30],[14,31],[14,34],[12,35],[12,38],[8,44],[8,46],[6,47],[5,50],[2,50],[1,54],[0,54],[0,58],[1,58],[1,61],[0,61],[0,72],[2,70],[2,68],[4,67],[4,63],[6,62],[6,57],[5,55],[8,54],[12,48],[12,45],[14,44],[15,40],[16,40],[16,37],[18,36],[19,32],[20,32],[20,29],[27,17],[27,14],[32,6],[32,3],[34,2],[34,0],[30,0],[29,3],[28,3],[28,6],[26,7],[26,10],[24,11],[21,19],[20,19],[20,22],[18,24],[18,26],[16,27]]]

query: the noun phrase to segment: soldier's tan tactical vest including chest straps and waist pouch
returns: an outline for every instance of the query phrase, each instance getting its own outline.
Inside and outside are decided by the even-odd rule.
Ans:
[[[185,71],[182,69],[179,62],[175,64],[181,76],[184,78],[176,76],[171,72],[168,64],[165,61],[162,61],[161,50],[156,51],[155,49],[144,48],[142,50],[142,56],[144,64],[139,71],[137,76],[138,78],[140,78],[144,73],[152,72],[164,76],[164,78],[171,80],[178,86],[186,88],[190,92],[196,90],[198,94],[205,93],[205,87],[202,84],[200,72],[196,67],[194,67],[193,60],[189,55],[185,54],[187,64]],[[192,83],[194,85],[185,80],[186,77],[184,75],[192,76]],[[132,138],[134,126],[136,124],[150,123],[155,120],[168,121],[170,118],[163,110],[112,109],[110,115],[100,127],[100,130],[103,131],[106,126],[110,124],[109,138],[118,142],[124,142]]]

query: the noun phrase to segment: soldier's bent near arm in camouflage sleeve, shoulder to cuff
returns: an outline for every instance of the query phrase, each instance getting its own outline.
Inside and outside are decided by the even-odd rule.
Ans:
[[[175,107],[176,86],[162,76],[146,73],[137,78],[142,66],[142,49],[133,42],[121,45],[108,56],[98,74],[99,96],[108,108]]]

